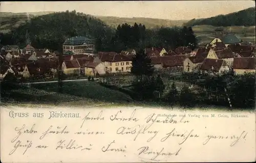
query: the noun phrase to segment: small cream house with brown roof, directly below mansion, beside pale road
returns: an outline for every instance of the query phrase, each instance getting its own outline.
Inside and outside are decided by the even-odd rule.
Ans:
[[[61,69],[67,75],[80,75],[80,65],[77,60],[63,61]]]

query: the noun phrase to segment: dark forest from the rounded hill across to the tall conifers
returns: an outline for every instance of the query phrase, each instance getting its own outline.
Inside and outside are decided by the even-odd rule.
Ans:
[[[61,52],[62,43],[69,37],[87,36],[96,40],[96,50],[120,52],[127,48],[165,47],[197,44],[191,27],[147,29],[145,25],[120,24],[114,30],[94,16],[74,11],[57,12],[33,17],[8,34],[1,33],[2,45],[31,43],[36,48],[49,48]]]

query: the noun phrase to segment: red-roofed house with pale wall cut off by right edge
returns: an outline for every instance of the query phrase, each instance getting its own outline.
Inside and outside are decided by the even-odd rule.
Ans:
[[[233,71],[236,74],[255,73],[255,58],[234,58]]]

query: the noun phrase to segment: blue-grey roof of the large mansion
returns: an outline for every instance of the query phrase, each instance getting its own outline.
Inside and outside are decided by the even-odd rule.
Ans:
[[[93,44],[93,39],[84,37],[84,36],[76,36],[67,39],[63,45],[82,45],[82,44]]]

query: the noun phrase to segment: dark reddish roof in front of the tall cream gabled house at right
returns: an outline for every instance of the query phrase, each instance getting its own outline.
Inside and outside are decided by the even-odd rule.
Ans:
[[[201,70],[207,70],[207,71],[219,71],[221,66],[226,66],[224,60],[216,60],[216,59],[204,59]]]

